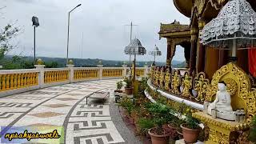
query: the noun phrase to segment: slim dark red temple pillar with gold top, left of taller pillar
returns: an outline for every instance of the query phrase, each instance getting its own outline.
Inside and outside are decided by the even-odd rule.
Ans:
[[[193,75],[196,72],[198,30],[191,29],[190,34],[191,34],[190,75]]]

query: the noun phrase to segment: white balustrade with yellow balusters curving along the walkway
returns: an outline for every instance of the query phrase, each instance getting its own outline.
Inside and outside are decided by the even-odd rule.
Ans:
[[[67,65],[66,68],[44,68],[44,65],[35,65],[35,67],[25,70],[0,70],[0,97],[73,82],[124,78],[130,70],[126,65],[122,67]],[[146,77],[149,71],[148,66],[138,67],[136,75]]]

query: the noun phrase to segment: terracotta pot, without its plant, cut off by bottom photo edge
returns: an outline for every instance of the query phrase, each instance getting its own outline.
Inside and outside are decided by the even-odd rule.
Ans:
[[[168,144],[169,143],[169,138],[170,138],[169,134],[162,134],[162,135],[153,134],[150,132],[151,130],[152,129],[149,130],[149,134],[151,137],[152,144]]]

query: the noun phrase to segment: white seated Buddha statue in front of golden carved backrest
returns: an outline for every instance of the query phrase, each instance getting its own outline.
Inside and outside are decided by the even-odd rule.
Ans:
[[[231,114],[232,116],[234,114],[234,111],[231,106],[230,93],[226,90],[226,84],[224,82],[218,83],[218,92],[216,94],[214,102],[210,103],[210,105],[208,106],[208,114],[211,114],[211,110],[213,109],[218,111],[218,118],[219,116],[222,117],[222,115],[224,116],[225,114]],[[233,119],[234,118],[230,118],[230,120]]]

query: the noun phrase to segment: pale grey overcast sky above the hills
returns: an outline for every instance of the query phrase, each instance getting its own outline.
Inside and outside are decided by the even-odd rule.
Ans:
[[[172,0],[0,0],[0,8],[6,6],[0,10],[0,26],[17,20],[22,27],[16,40],[18,49],[11,54],[34,54],[31,18],[37,16],[37,56],[66,58],[67,15],[79,3],[82,6],[70,16],[70,58],[128,60],[123,50],[130,42],[130,27],[125,25],[133,21],[138,25],[133,38],[140,39],[147,51],[156,44],[162,50],[158,61],[165,62],[166,38],[159,40],[160,22],[190,21],[176,10]],[[182,48],[178,47],[174,59],[184,60]]]

